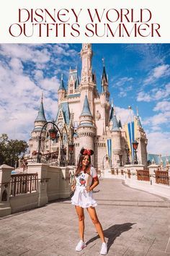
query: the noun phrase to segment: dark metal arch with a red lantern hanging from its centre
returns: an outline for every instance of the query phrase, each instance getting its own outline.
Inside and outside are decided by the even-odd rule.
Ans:
[[[39,137],[39,140],[38,140],[38,151],[37,151],[37,163],[40,163],[41,162],[41,156],[42,156],[42,153],[40,152],[41,150],[41,140],[42,140],[42,130],[44,129],[44,127],[47,125],[47,124],[53,124],[53,127],[51,129],[48,130],[49,132],[49,135],[50,135],[50,140],[55,140],[56,137],[57,137],[57,134],[59,132],[60,136],[61,136],[61,160],[60,160],[60,166],[65,166],[65,163],[64,163],[64,158],[63,158],[63,135],[61,134],[61,130],[58,128],[58,126],[55,124],[54,121],[47,121],[42,129],[41,129],[41,132],[40,132],[40,137]],[[55,128],[56,127],[56,128]]]

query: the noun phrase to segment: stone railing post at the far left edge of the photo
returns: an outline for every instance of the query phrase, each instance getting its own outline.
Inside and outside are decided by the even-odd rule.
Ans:
[[[0,166],[0,217],[11,214],[12,208],[9,202],[10,179],[14,170],[11,166]]]

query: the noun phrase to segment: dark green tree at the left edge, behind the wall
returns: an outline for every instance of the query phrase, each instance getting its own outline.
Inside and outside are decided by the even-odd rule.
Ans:
[[[15,161],[24,155],[28,148],[24,140],[9,140],[8,135],[2,134],[0,137],[0,164],[6,163],[14,166]]]

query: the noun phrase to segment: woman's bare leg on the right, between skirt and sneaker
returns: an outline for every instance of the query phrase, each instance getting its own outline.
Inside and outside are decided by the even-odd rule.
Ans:
[[[87,208],[87,210],[88,210],[89,216],[91,218],[91,221],[94,223],[94,226],[97,229],[97,233],[99,234],[99,237],[102,239],[102,242],[105,243],[102,225],[97,218],[96,209],[94,207],[89,207],[89,208]]]

